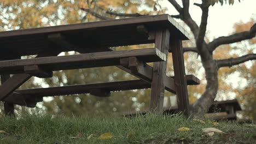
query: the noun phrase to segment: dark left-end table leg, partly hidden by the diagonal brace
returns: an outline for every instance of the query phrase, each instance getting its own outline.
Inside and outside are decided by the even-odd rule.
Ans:
[[[10,75],[1,75],[1,83],[3,84],[10,78]],[[4,101],[4,114],[14,116],[14,104]]]

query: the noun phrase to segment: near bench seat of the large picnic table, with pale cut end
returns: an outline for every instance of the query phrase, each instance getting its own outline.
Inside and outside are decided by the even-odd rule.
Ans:
[[[86,53],[82,55],[42,57],[0,61],[0,73],[23,73],[26,65],[39,65],[49,70],[106,67],[120,65],[120,58],[137,57],[143,62],[166,61],[166,55],[158,49],[139,49]]]

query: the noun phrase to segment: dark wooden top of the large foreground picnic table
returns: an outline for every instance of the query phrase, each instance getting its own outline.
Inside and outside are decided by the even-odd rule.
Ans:
[[[168,28],[171,39],[188,39],[188,33],[171,16],[142,16],[0,32],[0,57],[154,43],[137,31],[139,25],[146,26],[148,31]],[[74,44],[74,47],[56,45],[49,40],[50,34],[60,34],[62,40]]]

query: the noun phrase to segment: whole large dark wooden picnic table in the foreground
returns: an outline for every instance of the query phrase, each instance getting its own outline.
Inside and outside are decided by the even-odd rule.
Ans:
[[[150,110],[163,111],[166,89],[177,94],[178,109],[187,115],[187,84],[197,85],[199,79],[185,75],[182,40],[188,40],[188,33],[169,15],[0,32],[0,100],[4,101],[5,114],[13,114],[14,104],[34,107],[47,96],[91,93],[108,97],[112,91],[151,88]],[[155,46],[124,51],[110,49],[139,44]],[[80,55],[57,56],[67,51],[77,51]],[[168,52],[172,53],[172,77],[166,75]],[[37,56],[20,59],[29,55]],[[154,62],[153,67],[148,62]],[[32,76],[45,78],[53,76],[56,70],[106,66],[118,67],[139,80],[17,89]]]

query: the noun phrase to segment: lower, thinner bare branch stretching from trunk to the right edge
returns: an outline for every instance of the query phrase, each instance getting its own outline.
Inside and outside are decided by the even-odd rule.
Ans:
[[[253,59],[256,59],[256,54],[248,54],[248,55],[237,57],[237,58],[217,60],[217,64],[218,64],[218,68],[232,67],[233,65],[244,63],[246,61],[253,60]]]

